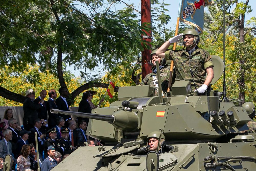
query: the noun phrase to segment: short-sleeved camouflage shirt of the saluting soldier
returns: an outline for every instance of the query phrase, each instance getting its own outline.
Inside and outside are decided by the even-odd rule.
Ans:
[[[184,50],[169,50],[165,52],[165,59],[171,59],[174,61],[176,68],[176,79],[190,80],[192,89],[195,89],[193,79],[190,73],[189,67],[189,53]],[[191,54],[190,61],[191,69],[194,74],[194,81],[197,87],[200,87],[205,82],[205,69],[214,66],[211,57],[207,51],[200,49],[196,46],[196,50]]]

